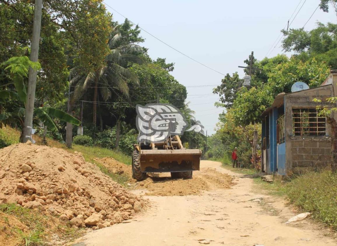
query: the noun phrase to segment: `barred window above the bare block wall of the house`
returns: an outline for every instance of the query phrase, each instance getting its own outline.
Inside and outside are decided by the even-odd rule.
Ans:
[[[325,117],[318,116],[319,111],[312,109],[293,109],[293,135],[324,136],[326,134]]]

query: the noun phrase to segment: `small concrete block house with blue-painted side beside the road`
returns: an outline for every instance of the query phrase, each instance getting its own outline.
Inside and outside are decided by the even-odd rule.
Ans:
[[[317,88],[278,94],[262,113],[262,172],[290,175],[329,165],[331,127],[313,102],[332,106],[326,98],[337,94],[337,74],[328,79]]]

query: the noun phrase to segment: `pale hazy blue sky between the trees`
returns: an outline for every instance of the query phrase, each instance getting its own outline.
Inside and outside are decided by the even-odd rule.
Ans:
[[[238,72],[245,74],[238,66],[245,66],[243,61],[251,51],[254,57],[262,60],[282,53],[281,42],[274,48],[275,40],[288,22],[290,28],[302,28],[319,4],[319,0],[104,0],[116,11],[126,16],[141,28],[156,36],[180,52],[200,63],[222,73]],[[300,3],[300,4],[299,4]],[[299,4],[299,5],[298,5]],[[114,20],[124,22],[124,17],[106,6],[113,13]],[[332,8],[325,13],[319,8],[305,26],[312,30],[316,22],[336,23]],[[215,133],[218,115],[223,108],[216,108],[214,102],[219,96],[213,94],[214,85],[221,84],[224,77],[210,70],[172,48],[161,43],[142,31],[145,42],[141,45],[148,48],[152,59],[166,58],[167,63],[175,63],[171,74],[187,88],[187,102],[195,111],[208,135]],[[274,44],[274,46],[273,46]],[[268,53],[268,51],[271,51]],[[290,53],[287,53],[290,55]],[[195,87],[197,86],[197,87]]]

